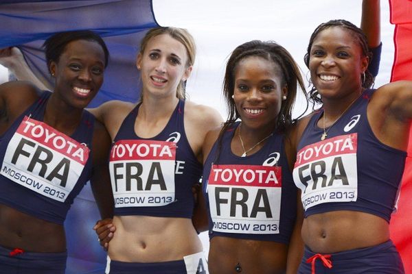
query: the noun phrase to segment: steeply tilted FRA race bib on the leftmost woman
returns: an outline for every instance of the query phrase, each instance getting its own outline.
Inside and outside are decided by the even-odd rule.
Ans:
[[[25,116],[10,139],[0,174],[64,202],[82,174],[89,151],[46,123]]]

